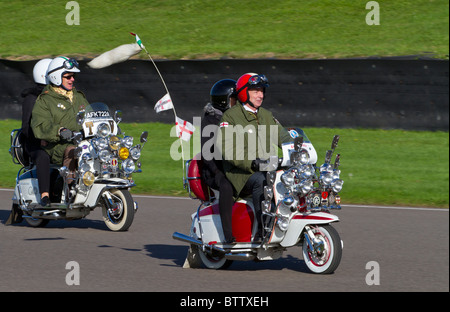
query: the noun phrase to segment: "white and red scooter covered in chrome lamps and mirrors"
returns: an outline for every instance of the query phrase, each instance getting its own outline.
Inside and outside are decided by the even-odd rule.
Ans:
[[[185,185],[201,201],[192,214],[189,235],[175,232],[173,238],[190,244],[184,267],[224,269],[233,260],[274,260],[288,247],[302,246],[303,259],[314,273],[332,273],[339,266],[343,243],[331,223],[339,218],[329,209],[340,209],[339,158],[330,164],[339,136],[335,136],[325,163],[317,168],[317,154],[305,133],[290,129],[294,143],[283,146],[278,168],[267,172],[268,185],[262,202],[264,235],[254,242],[258,224],[251,199],[235,202],[232,232],[235,244],[225,241],[219,215],[217,190],[210,190],[200,178],[201,161],[187,162]],[[278,159],[277,159],[278,160]],[[318,171],[318,172],[317,172]]]

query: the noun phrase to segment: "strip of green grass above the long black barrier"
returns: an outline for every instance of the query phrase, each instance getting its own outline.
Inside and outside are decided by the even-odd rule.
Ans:
[[[447,0],[0,1],[0,57],[93,57],[139,34],[155,58],[345,58],[432,54],[448,59]],[[144,57],[144,54],[141,54]]]

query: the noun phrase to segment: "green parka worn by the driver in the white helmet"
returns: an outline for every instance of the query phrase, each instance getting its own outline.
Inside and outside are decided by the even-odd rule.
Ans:
[[[77,123],[77,113],[83,111],[87,105],[85,95],[72,89],[73,98],[55,92],[51,85],[47,85],[36,99],[31,114],[31,128],[34,136],[48,142],[42,148],[50,155],[51,162],[62,164],[64,150],[71,142],[65,141],[59,136],[60,128],[72,131],[80,131]]]

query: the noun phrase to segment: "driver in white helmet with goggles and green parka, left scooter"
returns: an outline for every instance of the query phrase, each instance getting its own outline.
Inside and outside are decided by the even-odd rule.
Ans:
[[[72,132],[81,130],[76,116],[89,104],[74,86],[75,73],[79,72],[75,59],[65,56],[53,59],[47,70],[50,84],[37,98],[31,118],[34,135],[45,142],[43,148],[52,163],[62,164],[70,171],[76,169]]]

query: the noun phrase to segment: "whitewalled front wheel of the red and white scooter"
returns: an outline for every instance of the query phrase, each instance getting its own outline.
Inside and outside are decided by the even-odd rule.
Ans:
[[[341,238],[331,225],[318,226],[313,228],[312,231],[316,239],[324,243],[324,250],[321,254],[314,254],[309,250],[308,244],[304,241],[302,246],[303,260],[311,272],[331,274],[338,268],[341,262]]]

